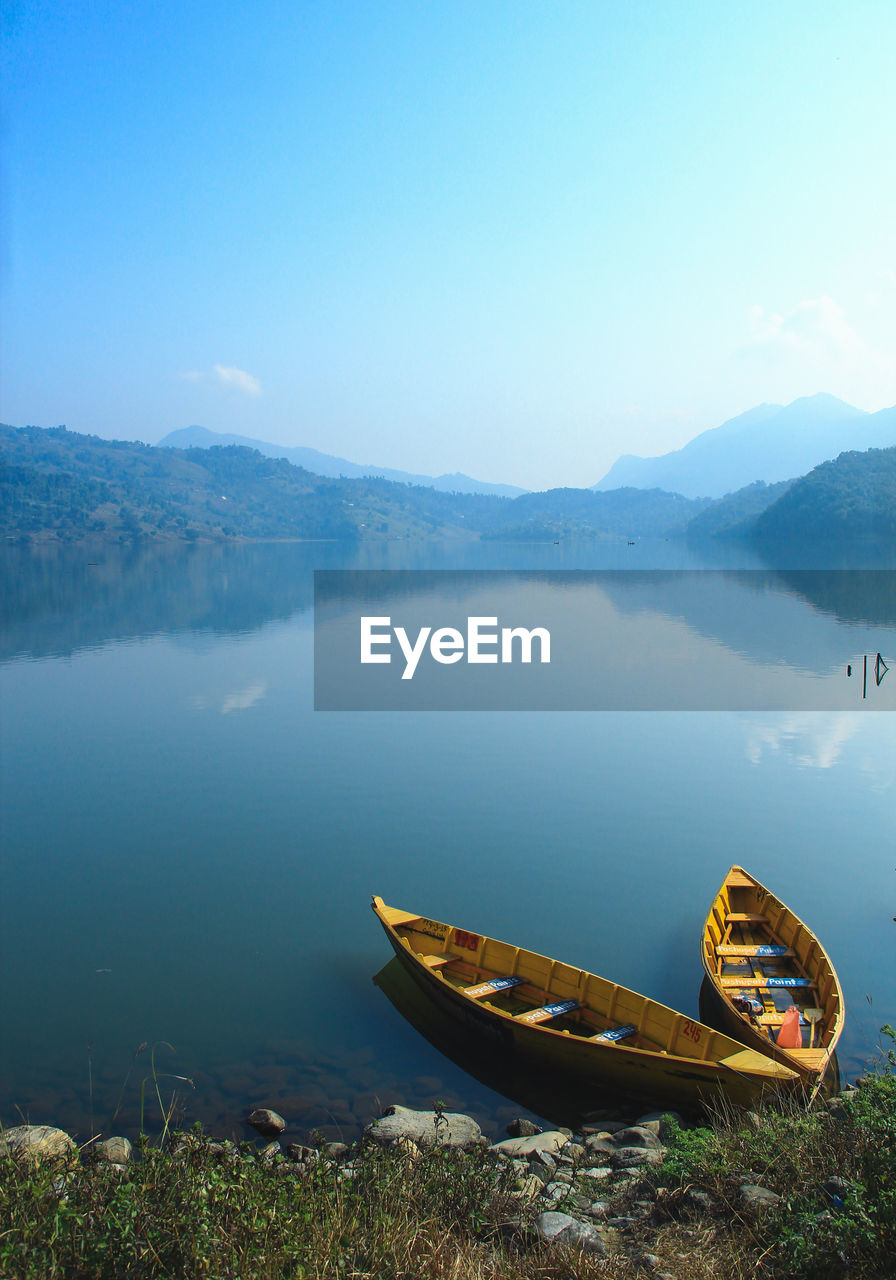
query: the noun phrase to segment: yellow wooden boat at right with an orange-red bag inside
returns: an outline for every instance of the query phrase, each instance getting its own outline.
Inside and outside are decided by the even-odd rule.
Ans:
[[[742,867],[732,867],[703,929],[712,1014],[809,1085],[836,1074],[846,1006],[815,934]],[[713,1018],[716,1020],[716,1018]]]

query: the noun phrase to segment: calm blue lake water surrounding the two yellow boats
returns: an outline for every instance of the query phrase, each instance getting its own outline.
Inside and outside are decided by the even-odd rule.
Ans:
[[[732,863],[828,948],[858,1074],[896,1023],[896,669],[865,700],[844,669],[896,658],[896,575],[844,570],[896,561],[813,567],[831,563],[808,580],[805,558],[680,543],[4,549],[0,1120],[84,1139],[127,1078],[132,1132],[147,1043],[216,1132],[270,1105],[291,1134],[351,1138],[378,1103],[440,1098],[497,1133],[520,1103],[374,983],[371,893],[696,1014]],[[316,568],[760,570],[763,591],[732,575],[723,608],[682,607],[676,645],[778,682],[801,664],[837,709],[315,710]],[[660,589],[639,593],[602,596],[621,635],[669,625]]]

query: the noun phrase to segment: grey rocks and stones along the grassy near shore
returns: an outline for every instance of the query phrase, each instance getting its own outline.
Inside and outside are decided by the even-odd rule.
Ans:
[[[842,1106],[837,1100],[829,1103],[835,1108],[837,1105]],[[742,1120],[748,1126],[762,1124],[755,1112],[745,1112]],[[681,1275],[664,1270],[664,1260],[653,1252],[654,1236],[662,1226],[672,1216],[699,1226],[724,1212],[699,1187],[669,1189],[662,1185],[662,1179],[650,1176],[667,1157],[666,1139],[684,1126],[675,1112],[599,1115],[576,1133],[540,1129],[531,1120],[517,1119],[507,1126],[507,1138],[490,1142],[471,1116],[447,1112],[438,1105],[431,1111],[390,1106],[351,1146],[326,1142],[323,1135],[315,1146],[284,1143],[287,1121],[270,1107],[252,1108],[246,1123],[264,1144],[212,1138],[197,1126],[170,1134],[165,1155],[173,1161],[195,1157],[230,1165],[247,1161],[264,1166],[278,1181],[294,1180],[298,1185],[321,1169],[349,1184],[358,1174],[365,1146],[388,1148],[407,1165],[438,1151],[456,1153],[458,1158],[476,1155],[494,1166],[494,1184],[503,1189],[500,1230],[504,1236],[511,1233],[521,1248],[564,1245],[595,1260],[626,1260],[658,1280],[676,1280]],[[140,1170],[140,1157],[127,1138],[110,1137],[78,1149],[69,1134],[49,1125],[5,1130],[0,1134],[0,1157],[4,1155],[58,1162],[60,1171],[54,1185],[60,1197],[78,1170],[88,1174],[102,1167],[104,1174],[120,1179],[136,1178]],[[820,1212],[827,1212],[826,1204],[842,1202],[847,1193],[849,1187],[831,1170],[819,1187]],[[740,1181],[736,1196],[736,1211],[745,1220],[760,1217],[782,1201],[749,1176]]]

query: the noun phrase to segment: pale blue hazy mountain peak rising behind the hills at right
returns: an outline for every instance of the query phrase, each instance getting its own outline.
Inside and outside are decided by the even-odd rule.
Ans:
[[[593,488],[630,485],[721,498],[758,480],[777,484],[803,476],[840,453],[893,444],[896,406],[865,413],[835,396],[806,396],[787,406],[758,404],[660,457],[625,453]]]

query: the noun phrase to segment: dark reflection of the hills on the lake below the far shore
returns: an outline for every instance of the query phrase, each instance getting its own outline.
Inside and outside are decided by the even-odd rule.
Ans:
[[[507,570],[524,585],[538,577],[534,568],[552,573],[600,568],[602,589],[618,617],[676,618],[690,631],[760,662],[783,655],[799,664],[818,639],[812,620],[820,617],[850,627],[892,631],[896,626],[896,572],[891,568],[744,570],[755,561],[744,549],[730,549],[728,564],[722,561],[708,593],[698,585],[700,573],[686,573],[682,581],[680,571],[705,568],[718,559],[689,557],[684,544],[639,544],[637,562],[599,543],[564,545],[558,554],[552,550],[477,543],[351,549],[338,543],[174,544],[93,552],[5,547],[0,548],[0,660],[69,655],[159,634],[246,635],[301,616],[310,622],[312,571],[328,567],[412,568],[404,586],[410,595],[444,591],[445,571]],[[886,561],[886,549],[878,549],[878,556]],[[657,572],[663,566],[668,568]],[[579,572],[568,576],[575,588]],[[692,581],[685,588],[687,579]],[[787,600],[804,608],[787,609]],[[791,618],[797,620],[796,628]],[[886,659],[886,644],[869,652],[873,655],[878,648]],[[855,653],[860,652],[856,645]]]

